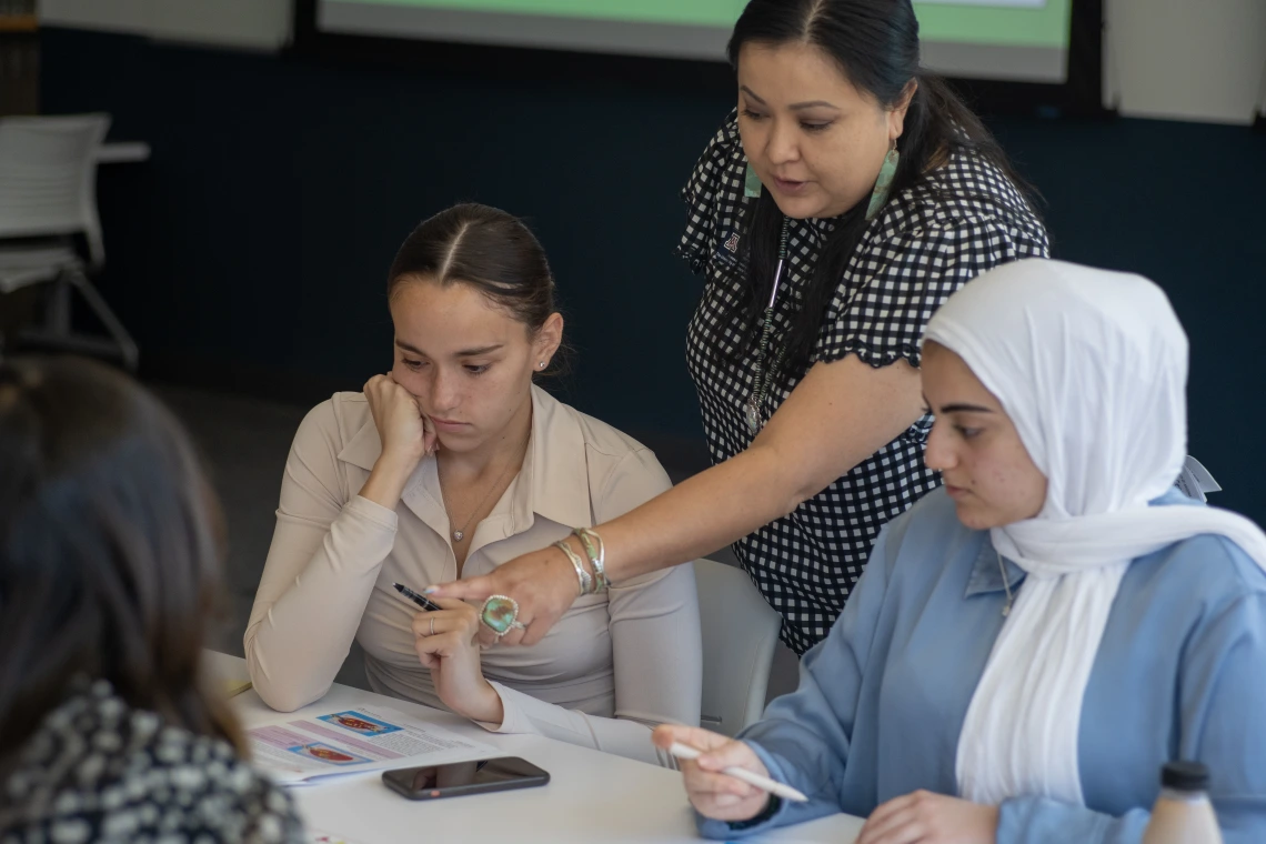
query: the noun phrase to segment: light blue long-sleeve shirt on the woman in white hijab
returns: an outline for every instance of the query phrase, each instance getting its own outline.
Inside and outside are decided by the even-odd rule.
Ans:
[[[1199,506],[1172,491],[1153,506]],[[957,795],[958,733],[1003,626],[1003,564],[943,490],[880,535],[830,635],[805,654],[800,687],[747,729],[771,774],[805,792],[738,839],[838,811],[867,816],[919,788]],[[1024,572],[1005,562],[1015,593]],[[1266,574],[1237,545],[1201,535],[1131,564],[1081,710],[1085,806],[1015,797],[998,844],[1137,844],[1172,759],[1209,766],[1225,844],[1266,841]]]

